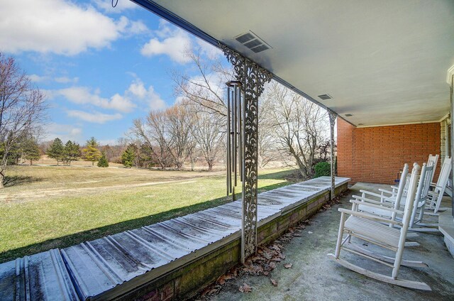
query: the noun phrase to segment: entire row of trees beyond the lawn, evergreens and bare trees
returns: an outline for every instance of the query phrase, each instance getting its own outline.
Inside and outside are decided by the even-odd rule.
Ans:
[[[43,93],[31,84],[13,58],[0,53],[0,188],[6,165],[28,160],[33,164],[40,153],[70,165],[85,158],[98,165],[109,162],[150,168],[181,170],[204,161],[208,170],[223,163],[226,153],[225,82],[233,70],[220,60],[203,60],[189,53],[192,70],[198,75],[174,72],[173,106],[150,111],[136,119],[127,138],[115,146],[99,146],[96,139],[81,148],[74,141],[56,138],[45,149],[38,145],[47,106]],[[324,109],[299,94],[271,82],[259,99],[258,161],[265,167],[273,160],[297,165],[302,177],[314,174],[314,165],[327,159],[328,115]]]

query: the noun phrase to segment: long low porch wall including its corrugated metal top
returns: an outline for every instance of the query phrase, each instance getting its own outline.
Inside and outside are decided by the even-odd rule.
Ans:
[[[336,178],[336,195],[348,180]],[[321,177],[261,193],[258,243],[275,240],[315,214],[329,199],[330,187],[330,178]],[[190,297],[240,262],[240,206],[236,201],[3,263],[0,300]]]

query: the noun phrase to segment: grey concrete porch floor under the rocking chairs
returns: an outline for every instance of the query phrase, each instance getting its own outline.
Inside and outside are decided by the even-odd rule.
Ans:
[[[351,195],[358,195],[360,189],[377,192],[380,187],[387,189],[389,185],[353,185],[348,195],[341,199],[341,204],[316,214],[310,219],[311,225],[301,231],[301,236],[294,237],[285,246],[283,253],[287,257],[270,275],[246,275],[230,280],[210,300],[454,300],[454,258],[443,243],[441,233],[420,234],[413,241],[421,245],[408,247],[404,251],[404,259],[423,261],[428,264],[428,268],[402,267],[399,273],[399,278],[427,283],[432,288],[431,292],[401,288],[367,278],[338,265],[326,256],[327,253],[334,253],[336,246],[341,217],[338,208],[350,208]],[[438,217],[430,217],[426,222],[437,222],[437,219]],[[365,243],[355,238],[352,242],[359,242],[360,246]],[[387,250],[372,243],[366,243],[362,247],[387,253]],[[392,252],[388,254],[392,255]],[[359,257],[343,251],[343,258],[348,261],[391,275],[390,268]],[[292,263],[292,268],[284,268],[285,263]],[[271,284],[271,279],[277,280],[277,287]],[[240,292],[238,288],[243,283],[250,285],[252,292]]]

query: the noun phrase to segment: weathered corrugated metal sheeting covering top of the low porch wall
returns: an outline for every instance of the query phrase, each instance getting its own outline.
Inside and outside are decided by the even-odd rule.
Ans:
[[[348,180],[337,177],[336,186]],[[259,224],[330,187],[330,177],[319,177],[261,193]],[[237,200],[60,251],[18,258],[0,265],[0,300],[112,297],[121,293],[123,283],[133,288],[151,270],[160,275],[221,246],[225,239],[238,238],[240,227],[241,201]]]

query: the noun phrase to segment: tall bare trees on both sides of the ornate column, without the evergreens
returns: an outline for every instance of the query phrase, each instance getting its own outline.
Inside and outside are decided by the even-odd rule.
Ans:
[[[161,111],[136,119],[131,136],[142,153],[155,158],[160,168],[184,168],[204,160],[209,170],[226,153],[224,83],[234,77],[219,60],[203,60],[189,53],[197,76],[174,72],[175,94],[180,101]],[[258,161],[261,168],[281,160],[297,165],[301,177],[314,175],[314,166],[328,160],[327,112],[301,95],[272,81],[258,106]]]

